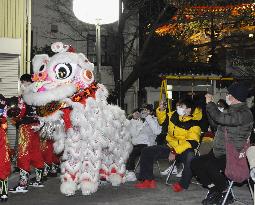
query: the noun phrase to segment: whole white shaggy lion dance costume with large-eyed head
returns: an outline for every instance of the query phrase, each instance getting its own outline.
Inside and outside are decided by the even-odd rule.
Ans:
[[[24,100],[37,107],[42,137],[54,139],[54,150],[63,153],[63,194],[83,195],[98,189],[100,178],[113,186],[125,182],[125,162],[132,149],[129,121],[118,106],[107,103],[108,91],[94,80],[94,65],[81,53],[60,42],[56,52],[33,58],[34,83]]]

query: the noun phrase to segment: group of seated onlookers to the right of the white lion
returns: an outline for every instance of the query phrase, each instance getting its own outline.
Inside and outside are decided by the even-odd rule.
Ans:
[[[172,169],[170,166],[161,172],[168,174],[170,170],[175,170],[178,173],[180,180],[171,185],[174,192],[188,189],[192,177],[196,177],[209,190],[202,203],[221,204],[229,185],[224,175],[225,132],[238,151],[249,137],[251,143],[255,138],[254,93],[242,82],[233,83],[227,90],[226,99],[220,99],[217,103],[213,102],[213,95],[206,94],[205,107],[198,106],[191,97],[185,97],[171,110],[163,101],[159,102],[155,113],[152,105],[136,109],[130,116],[134,149],[127,162],[127,180],[136,180],[135,159],[139,157],[139,182],[135,187],[156,188],[153,164],[159,159],[168,159],[179,167],[181,165],[181,168]],[[212,148],[199,156],[199,147],[208,136]],[[230,193],[226,204],[233,201]]]

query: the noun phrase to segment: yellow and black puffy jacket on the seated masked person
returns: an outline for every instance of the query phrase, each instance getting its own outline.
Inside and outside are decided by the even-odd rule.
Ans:
[[[173,148],[177,154],[181,154],[189,148],[194,148],[192,145],[197,144],[200,140],[201,109],[196,108],[191,116],[179,116],[176,111],[166,113],[166,111],[160,111],[158,108],[156,115],[159,124],[166,120],[166,114],[169,116],[167,145]]]

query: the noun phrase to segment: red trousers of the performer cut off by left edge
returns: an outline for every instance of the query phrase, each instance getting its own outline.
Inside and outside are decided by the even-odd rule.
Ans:
[[[0,126],[0,180],[5,180],[11,173],[11,162],[6,131]]]

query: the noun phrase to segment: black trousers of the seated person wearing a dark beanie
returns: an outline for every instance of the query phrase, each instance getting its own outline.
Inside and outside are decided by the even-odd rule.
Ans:
[[[191,162],[191,169],[197,180],[207,188],[208,185],[214,184],[219,192],[224,191],[228,186],[228,181],[224,176],[225,166],[226,156],[216,158],[212,150]]]

